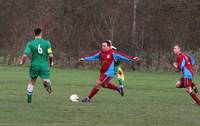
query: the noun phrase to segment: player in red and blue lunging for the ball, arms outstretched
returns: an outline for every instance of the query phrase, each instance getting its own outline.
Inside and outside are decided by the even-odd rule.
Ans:
[[[101,62],[100,77],[96,81],[96,85],[91,90],[88,97],[84,98],[82,102],[89,102],[91,98],[97,94],[101,87],[118,91],[122,95],[122,91],[119,87],[110,83],[110,80],[115,75],[114,63],[119,61],[138,61],[138,57],[127,56],[126,54],[111,49],[111,43],[109,41],[103,41],[101,50],[93,53],[92,55],[84,58],[80,58],[79,61],[84,60],[99,60]]]

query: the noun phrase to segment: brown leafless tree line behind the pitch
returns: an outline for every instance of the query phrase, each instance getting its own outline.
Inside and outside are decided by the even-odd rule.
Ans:
[[[109,39],[141,58],[125,68],[172,70],[175,44],[199,59],[199,20],[198,0],[0,0],[0,63],[16,64],[33,29],[41,27],[57,67],[98,66],[77,59]]]

